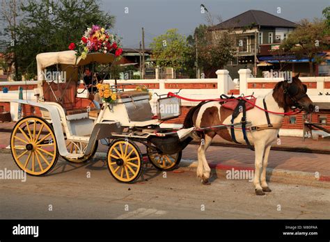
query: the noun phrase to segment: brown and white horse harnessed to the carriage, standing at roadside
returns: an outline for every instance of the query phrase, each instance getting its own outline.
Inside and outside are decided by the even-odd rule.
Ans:
[[[292,81],[280,81],[276,83],[274,89],[265,95],[258,97],[256,105],[263,107],[263,99],[267,104],[267,110],[285,113],[290,111],[292,106],[299,107],[307,113],[313,112],[315,106],[311,99],[306,95],[307,87],[303,85],[297,76],[292,78]],[[191,108],[184,120],[184,128],[189,127],[212,127],[219,124],[230,124],[233,111],[221,106],[220,102],[201,102],[197,106]],[[281,124],[284,115],[269,113],[269,120],[272,124]],[[234,122],[240,122],[242,113],[239,113]],[[265,111],[260,108],[253,108],[246,111],[246,120],[251,121],[252,126],[265,127],[267,118]],[[258,131],[246,130],[246,135],[249,142],[254,146],[255,150],[255,166],[256,171],[253,179],[253,184],[256,188],[256,195],[265,195],[265,192],[270,192],[266,181],[266,168],[268,163],[269,150],[278,136],[279,128],[267,128]],[[228,129],[206,129],[203,133],[198,134],[199,138],[205,138],[205,142],[198,147],[198,167],[197,177],[201,178],[203,184],[210,184],[210,167],[205,158],[207,147],[210,146],[212,138],[219,135],[222,138],[233,141]],[[245,143],[242,130],[235,130],[235,138],[239,143]],[[221,156],[219,156],[221,157]],[[261,182],[260,182],[261,181]]]

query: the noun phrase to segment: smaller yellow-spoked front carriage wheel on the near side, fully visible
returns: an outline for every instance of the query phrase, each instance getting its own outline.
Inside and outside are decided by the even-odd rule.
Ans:
[[[142,154],[132,141],[113,140],[107,154],[107,164],[111,175],[120,182],[132,183],[142,171]]]

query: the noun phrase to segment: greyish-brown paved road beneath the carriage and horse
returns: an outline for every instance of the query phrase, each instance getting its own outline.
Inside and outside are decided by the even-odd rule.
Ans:
[[[5,168],[17,169],[2,153]],[[257,197],[249,181],[219,177],[203,186],[194,170],[179,171],[164,178],[146,167],[148,181],[119,184],[103,161],[60,159],[47,177],[0,180],[0,218],[330,218],[326,188],[272,182],[273,192]]]

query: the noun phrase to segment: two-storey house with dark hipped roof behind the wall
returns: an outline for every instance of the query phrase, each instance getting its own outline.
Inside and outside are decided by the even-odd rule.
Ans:
[[[297,24],[262,10],[248,10],[214,26],[211,31],[230,31],[236,35],[237,57],[225,69],[237,73],[242,68],[254,70],[260,45],[278,45]],[[238,76],[233,76],[238,77]]]

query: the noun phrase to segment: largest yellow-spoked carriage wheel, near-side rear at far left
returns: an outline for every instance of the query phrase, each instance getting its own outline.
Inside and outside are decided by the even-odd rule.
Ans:
[[[54,130],[43,118],[19,120],[10,136],[10,150],[17,166],[29,175],[45,175],[58,160]]]

